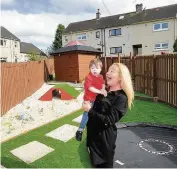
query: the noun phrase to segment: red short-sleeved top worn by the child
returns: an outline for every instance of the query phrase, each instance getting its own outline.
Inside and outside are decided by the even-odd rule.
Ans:
[[[85,89],[84,101],[91,101],[91,102],[95,101],[97,94],[91,92],[89,88],[94,87],[98,90],[101,90],[103,84],[105,84],[105,81],[102,75],[98,75],[96,77],[92,73],[89,73],[85,78],[85,83],[84,83],[84,89]]]

